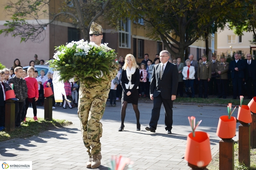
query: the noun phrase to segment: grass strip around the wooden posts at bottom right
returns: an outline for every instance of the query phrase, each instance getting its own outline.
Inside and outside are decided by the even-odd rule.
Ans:
[[[251,149],[251,167],[248,168],[238,162],[238,142],[234,144],[234,165],[235,170],[256,170],[256,149]],[[212,161],[207,166],[209,170],[219,170],[219,153],[212,158]]]

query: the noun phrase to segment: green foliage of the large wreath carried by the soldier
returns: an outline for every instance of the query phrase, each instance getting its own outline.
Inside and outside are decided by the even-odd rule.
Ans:
[[[92,47],[84,51],[76,46],[77,44],[73,48],[64,45],[57,47],[55,50],[59,59],[48,61],[49,67],[60,72],[60,80],[65,82],[75,77],[75,80],[80,79],[85,85],[106,80],[117,54],[115,50],[105,51],[104,47]]]

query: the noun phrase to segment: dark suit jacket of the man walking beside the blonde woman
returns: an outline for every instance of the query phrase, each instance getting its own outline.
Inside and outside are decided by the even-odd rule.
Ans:
[[[150,83],[150,94],[157,97],[160,93],[163,99],[172,99],[177,95],[179,71],[175,64],[167,62],[162,80],[160,79],[161,63],[156,64],[153,69]]]

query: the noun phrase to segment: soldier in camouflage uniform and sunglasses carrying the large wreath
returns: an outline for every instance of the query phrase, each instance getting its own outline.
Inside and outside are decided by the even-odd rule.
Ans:
[[[100,45],[102,39],[102,27],[95,22],[92,22],[90,28],[90,41],[96,45]],[[111,48],[108,48],[111,50]],[[117,58],[113,60],[111,66],[112,70],[107,75],[108,80],[100,83],[91,84],[85,88],[83,83],[80,83],[79,100],[78,100],[78,117],[81,123],[81,131],[84,140],[84,146],[87,148],[89,154],[89,161],[86,163],[87,168],[97,168],[100,166],[101,144],[100,137],[102,137],[102,118],[108,93],[111,86],[111,80],[116,77],[118,61]]]

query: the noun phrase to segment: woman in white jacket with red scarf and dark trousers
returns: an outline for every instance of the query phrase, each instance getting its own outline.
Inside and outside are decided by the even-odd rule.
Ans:
[[[194,79],[195,79],[195,67],[190,65],[190,60],[185,61],[186,65],[183,67],[182,70],[182,75],[183,75],[183,80],[186,85],[186,92],[187,92],[187,97],[195,97],[195,90],[194,90]]]

